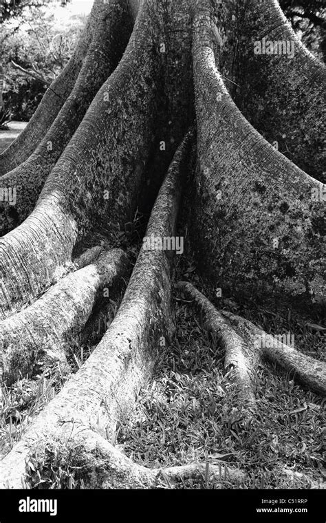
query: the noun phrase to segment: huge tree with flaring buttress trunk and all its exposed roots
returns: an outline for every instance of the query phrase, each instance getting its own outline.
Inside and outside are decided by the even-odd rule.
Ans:
[[[94,2],[65,70],[1,155],[5,381],[40,354],[66,360],[103,288],[129,270],[125,224],[155,203],[115,319],[3,458],[3,487],[26,480],[36,447],[51,459],[49,441],[90,487],[202,473],[205,464],[162,475],[107,439],[173,337],[172,292],[224,349],[245,421],[259,411],[253,372],[266,360],[325,395],[325,363],[219,311],[212,292],[320,306],[323,74],[274,0]],[[177,283],[172,251],[186,230],[197,280]]]

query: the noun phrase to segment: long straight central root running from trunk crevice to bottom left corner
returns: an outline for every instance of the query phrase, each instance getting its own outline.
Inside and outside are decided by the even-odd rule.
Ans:
[[[146,237],[175,235],[189,142],[191,135],[171,164]],[[114,422],[129,416],[136,392],[151,374],[162,338],[172,335],[171,254],[141,249],[121,306],[102,341],[0,462],[3,488],[21,487],[26,462],[40,439],[64,440],[72,431],[85,429],[111,437]]]

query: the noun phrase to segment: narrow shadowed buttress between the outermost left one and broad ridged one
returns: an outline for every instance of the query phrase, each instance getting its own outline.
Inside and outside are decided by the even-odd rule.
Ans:
[[[127,46],[132,30],[127,0],[100,3],[98,10],[94,38],[72,92],[30,158],[1,178],[3,188],[16,194],[14,205],[3,202],[2,235],[19,225],[34,209],[47,175]]]

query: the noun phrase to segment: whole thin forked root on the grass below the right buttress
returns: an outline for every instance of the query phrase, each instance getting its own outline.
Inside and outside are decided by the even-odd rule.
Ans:
[[[247,402],[250,407],[255,407],[253,376],[263,359],[291,372],[296,380],[317,394],[326,395],[326,363],[276,340],[251,321],[230,312],[218,312],[192,284],[180,282],[177,288],[199,306],[204,314],[205,327],[216,335],[224,349],[225,366],[234,369],[241,403]]]

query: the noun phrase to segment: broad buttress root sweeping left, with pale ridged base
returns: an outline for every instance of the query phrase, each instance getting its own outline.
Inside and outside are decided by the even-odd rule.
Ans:
[[[131,219],[160,103],[152,24],[145,2],[122,60],[48,176],[33,213],[0,240],[1,317],[43,292],[94,224],[114,235]]]

